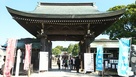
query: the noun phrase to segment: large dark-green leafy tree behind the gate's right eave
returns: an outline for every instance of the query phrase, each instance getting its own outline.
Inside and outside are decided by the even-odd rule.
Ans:
[[[108,11],[126,9],[125,13],[109,27],[104,34],[108,34],[110,39],[122,37],[136,37],[136,4],[115,6]],[[136,43],[133,39],[132,43]]]

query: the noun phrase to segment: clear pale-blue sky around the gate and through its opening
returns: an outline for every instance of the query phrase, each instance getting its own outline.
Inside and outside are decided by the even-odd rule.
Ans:
[[[5,44],[8,38],[34,38],[29,32],[21,27],[6,9],[6,6],[20,10],[33,11],[38,5],[38,2],[53,2],[53,3],[85,3],[93,2],[99,11],[107,11],[109,8],[117,5],[128,5],[135,3],[135,0],[0,0],[0,45]],[[99,36],[97,38],[108,36]],[[60,45],[67,47],[69,44],[75,44],[73,41],[55,41],[53,47]]]

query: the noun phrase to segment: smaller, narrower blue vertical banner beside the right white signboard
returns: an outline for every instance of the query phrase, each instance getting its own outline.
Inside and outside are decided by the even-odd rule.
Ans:
[[[96,70],[103,71],[103,47],[97,47],[97,54],[96,54]]]

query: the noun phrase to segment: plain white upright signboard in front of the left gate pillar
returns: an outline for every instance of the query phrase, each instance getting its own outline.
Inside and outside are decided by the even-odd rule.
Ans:
[[[48,52],[40,51],[39,71],[48,71]]]

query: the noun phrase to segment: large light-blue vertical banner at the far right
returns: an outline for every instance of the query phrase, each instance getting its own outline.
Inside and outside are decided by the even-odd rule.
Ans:
[[[119,40],[119,61],[118,61],[118,75],[128,76],[129,60],[128,55],[130,51],[130,39],[121,38]]]

